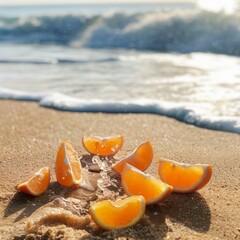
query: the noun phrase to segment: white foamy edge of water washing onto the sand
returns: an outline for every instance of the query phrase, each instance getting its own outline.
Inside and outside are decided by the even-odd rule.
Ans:
[[[89,100],[61,93],[30,93],[4,88],[0,89],[0,99],[35,101],[42,107],[61,111],[158,114],[202,128],[240,133],[240,118],[212,115],[210,104],[164,102],[145,98],[125,101]]]

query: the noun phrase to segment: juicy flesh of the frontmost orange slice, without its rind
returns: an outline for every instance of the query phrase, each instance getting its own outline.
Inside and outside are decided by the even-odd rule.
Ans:
[[[118,201],[112,205],[110,201],[98,202],[93,206],[98,221],[108,227],[123,227],[131,223],[142,212],[142,201],[139,198]]]

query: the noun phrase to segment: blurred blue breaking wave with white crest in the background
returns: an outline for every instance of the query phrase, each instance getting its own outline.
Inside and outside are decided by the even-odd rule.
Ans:
[[[0,41],[240,55],[240,16],[206,11],[0,18]]]

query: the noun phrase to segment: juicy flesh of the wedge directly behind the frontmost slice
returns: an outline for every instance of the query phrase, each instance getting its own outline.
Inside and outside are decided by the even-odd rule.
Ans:
[[[131,195],[142,195],[146,201],[159,198],[166,190],[166,185],[153,177],[146,177],[138,172],[126,170],[123,181]]]

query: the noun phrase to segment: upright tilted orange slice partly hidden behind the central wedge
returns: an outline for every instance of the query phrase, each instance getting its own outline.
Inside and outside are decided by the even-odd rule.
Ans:
[[[112,170],[121,175],[126,164],[130,164],[141,171],[145,171],[153,159],[153,146],[150,141],[139,145],[128,157],[112,166]]]

